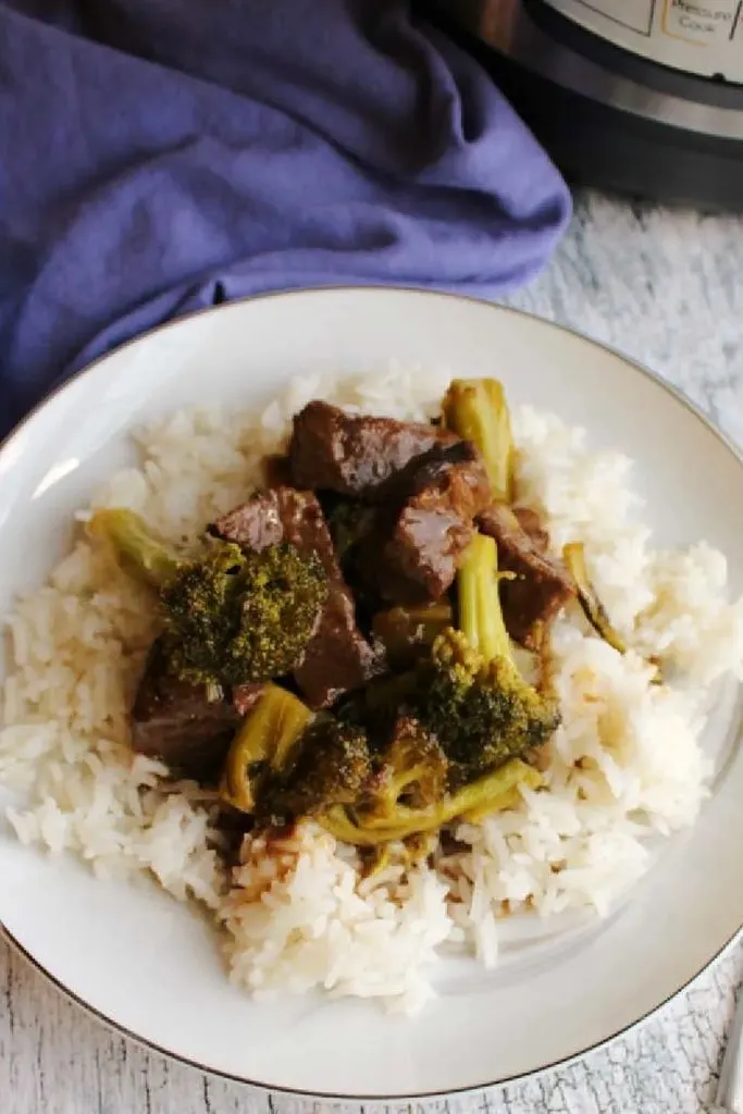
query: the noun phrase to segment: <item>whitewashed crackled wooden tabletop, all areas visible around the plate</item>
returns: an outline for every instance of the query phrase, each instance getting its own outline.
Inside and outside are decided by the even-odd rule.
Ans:
[[[742,276],[743,219],[587,196],[549,272],[510,302],[648,363],[743,444]],[[743,946],[737,945],[661,1015],[610,1048],[540,1081],[430,1104],[430,1110],[707,1111],[742,980]],[[65,1000],[1,941],[0,996],[0,1114],[304,1114],[323,1108],[208,1079],[149,1055]]]

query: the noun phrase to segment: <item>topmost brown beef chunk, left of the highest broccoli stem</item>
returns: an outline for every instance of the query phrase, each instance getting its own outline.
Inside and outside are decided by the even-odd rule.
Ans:
[[[297,487],[380,501],[379,488],[416,457],[458,438],[447,430],[392,418],[349,414],[310,402],[294,418],[290,446]]]

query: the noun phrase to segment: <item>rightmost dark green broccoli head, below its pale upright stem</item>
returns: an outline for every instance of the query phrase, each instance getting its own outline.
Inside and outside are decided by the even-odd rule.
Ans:
[[[452,785],[541,746],[559,723],[509,658],[483,661],[459,631],[439,635],[419,684],[421,719],[452,763]]]

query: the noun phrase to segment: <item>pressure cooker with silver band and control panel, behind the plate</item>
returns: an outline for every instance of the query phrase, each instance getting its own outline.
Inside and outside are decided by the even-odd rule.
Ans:
[[[743,0],[431,0],[574,180],[743,211]]]

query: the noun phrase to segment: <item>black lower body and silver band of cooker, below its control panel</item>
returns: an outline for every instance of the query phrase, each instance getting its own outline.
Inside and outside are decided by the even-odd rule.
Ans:
[[[424,6],[573,180],[743,211],[743,86],[623,50],[541,0]]]

